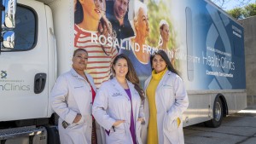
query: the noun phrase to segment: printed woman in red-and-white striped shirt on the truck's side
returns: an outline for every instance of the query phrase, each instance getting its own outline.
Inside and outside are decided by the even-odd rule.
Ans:
[[[77,0],[74,9],[74,47],[88,51],[86,72],[94,79],[97,89],[110,78],[113,58],[118,55],[113,44],[108,43],[112,29],[105,11],[105,0]]]

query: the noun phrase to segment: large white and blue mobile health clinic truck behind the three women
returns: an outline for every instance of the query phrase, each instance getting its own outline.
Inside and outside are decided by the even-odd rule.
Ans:
[[[74,49],[89,52],[88,72],[97,87],[110,77],[111,60],[119,53],[134,61],[143,85],[151,72],[149,56],[165,49],[166,43],[166,53],[189,94],[184,126],[206,122],[218,127],[224,116],[247,106],[243,28],[214,4],[207,0],[130,0],[125,25],[118,27],[113,1],[87,1],[18,0],[15,5],[15,0],[3,0],[1,143],[58,142],[49,93],[55,79],[71,68]],[[89,2],[94,5],[90,7]],[[143,23],[135,26],[139,8],[144,9]],[[96,17],[84,16],[85,11]],[[102,20],[101,11],[106,11],[108,20]],[[106,36],[86,27],[83,20],[90,23],[93,18],[110,21],[112,33]],[[164,23],[168,24],[167,38],[160,32]],[[124,27],[125,31],[119,31]],[[136,37],[143,32],[144,41],[138,43]]]

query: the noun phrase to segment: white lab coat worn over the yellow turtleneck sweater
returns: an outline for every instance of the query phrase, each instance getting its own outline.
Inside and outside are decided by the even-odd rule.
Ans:
[[[150,76],[145,81],[144,89],[148,88]],[[147,96],[146,96],[147,97]],[[182,114],[189,107],[189,99],[182,79],[175,73],[166,71],[155,91],[155,104],[157,109],[157,128],[159,144],[183,144]],[[146,124],[143,125],[142,139],[147,143],[149,107],[148,99],[145,101]],[[177,126],[177,118],[181,124]]]

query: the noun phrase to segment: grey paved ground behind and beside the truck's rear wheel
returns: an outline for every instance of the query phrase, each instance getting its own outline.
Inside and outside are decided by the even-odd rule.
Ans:
[[[256,108],[247,108],[224,118],[218,128],[204,124],[184,128],[186,144],[256,144]]]

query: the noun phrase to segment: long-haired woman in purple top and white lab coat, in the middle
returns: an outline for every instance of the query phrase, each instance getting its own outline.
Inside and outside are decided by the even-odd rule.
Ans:
[[[124,54],[115,57],[112,70],[113,79],[98,89],[93,116],[105,129],[107,144],[142,144],[144,93],[137,74]]]

